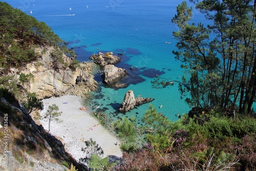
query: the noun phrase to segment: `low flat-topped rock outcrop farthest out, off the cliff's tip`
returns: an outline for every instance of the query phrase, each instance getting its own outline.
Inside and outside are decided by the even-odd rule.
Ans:
[[[109,64],[115,64],[121,61],[121,58],[113,55],[113,52],[107,52],[105,54],[99,52],[99,54],[93,54],[90,59],[94,60],[100,66],[105,66]]]

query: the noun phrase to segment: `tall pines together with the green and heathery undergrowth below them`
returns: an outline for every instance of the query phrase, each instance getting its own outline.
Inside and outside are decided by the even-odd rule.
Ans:
[[[193,109],[172,122],[151,105],[140,124],[135,117],[115,122],[124,154],[114,170],[256,169],[256,2],[190,2],[212,25],[191,23],[193,8],[178,5],[173,53],[185,75],[181,81],[156,76],[152,86],[178,83]]]

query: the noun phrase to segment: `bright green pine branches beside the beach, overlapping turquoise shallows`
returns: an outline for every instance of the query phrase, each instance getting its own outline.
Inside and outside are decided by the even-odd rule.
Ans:
[[[168,118],[163,117],[162,114],[157,113],[152,104],[141,119],[143,125],[136,125],[135,121],[135,117],[132,117],[130,120],[122,118],[122,121],[118,120],[114,123],[116,133],[124,141],[120,145],[124,152],[131,153],[138,148],[135,142],[139,139],[139,136],[150,142],[156,151],[169,149],[174,143],[170,140],[171,132],[175,132],[176,129],[182,127],[180,124],[174,124]]]

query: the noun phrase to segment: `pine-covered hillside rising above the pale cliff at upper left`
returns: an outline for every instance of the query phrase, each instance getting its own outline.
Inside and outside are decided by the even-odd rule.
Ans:
[[[75,52],[63,45],[63,40],[45,23],[4,2],[0,2],[0,11],[0,87],[11,91],[31,113],[42,108],[39,97],[29,89],[39,68],[46,67],[42,59],[46,53],[51,55],[48,68],[56,72],[75,71],[79,62]],[[63,55],[68,57],[64,59]],[[28,66],[31,63],[34,71],[26,69],[33,68]]]

